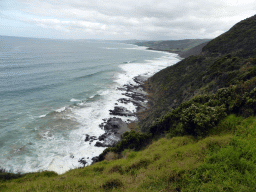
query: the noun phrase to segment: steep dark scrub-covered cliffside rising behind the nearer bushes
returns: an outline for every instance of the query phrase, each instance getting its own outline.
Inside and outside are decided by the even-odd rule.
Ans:
[[[190,56],[148,80],[152,96],[149,114],[140,122],[148,131],[156,118],[196,95],[215,93],[256,76],[256,15],[210,41],[201,54]]]

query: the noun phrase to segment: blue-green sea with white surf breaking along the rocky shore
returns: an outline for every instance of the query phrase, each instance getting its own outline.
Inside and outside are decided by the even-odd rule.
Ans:
[[[82,167],[81,158],[91,164],[105,147],[85,135],[104,133],[99,125],[125,98],[117,88],[178,61],[176,54],[111,41],[0,36],[0,167],[62,174]]]

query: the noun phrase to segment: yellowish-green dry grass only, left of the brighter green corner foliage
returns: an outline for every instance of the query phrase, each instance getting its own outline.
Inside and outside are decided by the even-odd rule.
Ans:
[[[231,135],[162,138],[139,152],[124,151],[123,158],[71,170],[63,175],[31,173],[0,183],[1,191],[160,191],[199,167],[213,146],[225,146]]]

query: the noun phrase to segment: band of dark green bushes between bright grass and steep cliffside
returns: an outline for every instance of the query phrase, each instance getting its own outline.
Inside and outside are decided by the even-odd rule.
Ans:
[[[147,130],[152,134],[168,132],[170,137],[204,137],[228,114],[244,117],[256,113],[256,78],[219,89],[215,94],[196,96],[156,119]]]

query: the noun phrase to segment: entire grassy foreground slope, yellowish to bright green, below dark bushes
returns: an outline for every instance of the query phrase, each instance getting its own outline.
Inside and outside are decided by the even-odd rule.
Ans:
[[[229,115],[197,140],[161,138],[117,160],[1,180],[0,191],[255,191],[256,117]]]

